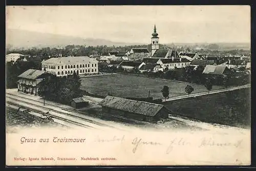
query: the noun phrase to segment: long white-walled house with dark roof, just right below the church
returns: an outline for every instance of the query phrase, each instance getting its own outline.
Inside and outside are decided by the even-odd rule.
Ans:
[[[172,58],[172,59],[160,59],[161,67],[166,70],[172,70],[175,68],[185,68],[189,65],[190,61],[186,58]]]

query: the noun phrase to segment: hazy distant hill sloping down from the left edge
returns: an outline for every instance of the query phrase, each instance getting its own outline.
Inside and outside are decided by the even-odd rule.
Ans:
[[[39,33],[18,29],[6,30],[6,44],[13,48],[44,48],[44,47],[65,47],[67,45],[86,46],[129,46],[134,45],[125,42],[113,42],[106,39],[94,39],[73,37],[66,35]]]

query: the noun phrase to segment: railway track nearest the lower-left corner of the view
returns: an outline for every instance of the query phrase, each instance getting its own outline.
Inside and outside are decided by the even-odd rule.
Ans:
[[[62,118],[62,117],[58,117],[56,115],[52,115],[52,114],[46,114],[44,112],[41,112],[41,111],[38,111],[38,110],[35,110],[35,109],[31,109],[31,108],[28,108],[26,106],[20,106],[18,104],[15,104],[15,103],[12,103],[12,102],[8,102],[8,104],[12,105],[12,106],[17,106],[17,107],[20,107],[20,109],[24,109],[24,110],[29,110],[29,111],[32,111],[32,112],[35,112],[37,114],[44,114],[44,115],[47,115],[47,116],[51,116],[52,118],[54,119],[57,119],[57,120],[61,120],[61,121],[64,121],[64,122],[67,122],[69,124],[73,124],[75,126],[68,126],[67,124],[61,124],[61,123],[58,123],[58,124],[61,124],[61,125],[65,125],[65,126],[68,126],[68,127],[84,127],[84,128],[87,128],[87,129],[92,129],[93,127],[92,126],[89,126],[89,125],[86,125],[86,124],[82,124],[82,123],[79,123],[79,122],[76,122],[76,121],[72,121],[72,120],[69,120],[69,119],[65,119],[65,118]],[[8,109],[12,109],[13,111],[16,111],[14,108],[12,108],[11,106],[6,106]]]

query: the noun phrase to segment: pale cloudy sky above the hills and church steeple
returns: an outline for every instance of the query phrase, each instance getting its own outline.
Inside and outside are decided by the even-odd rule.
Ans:
[[[7,6],[6,29],[160,44],[250,42],[250,6]]]

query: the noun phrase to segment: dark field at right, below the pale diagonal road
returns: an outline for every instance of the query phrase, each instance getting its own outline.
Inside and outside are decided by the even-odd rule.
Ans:
[[[251,123],[250,102],[250,89],[247,88],[169,101],[164,105],[179,116],[248,129]]]

